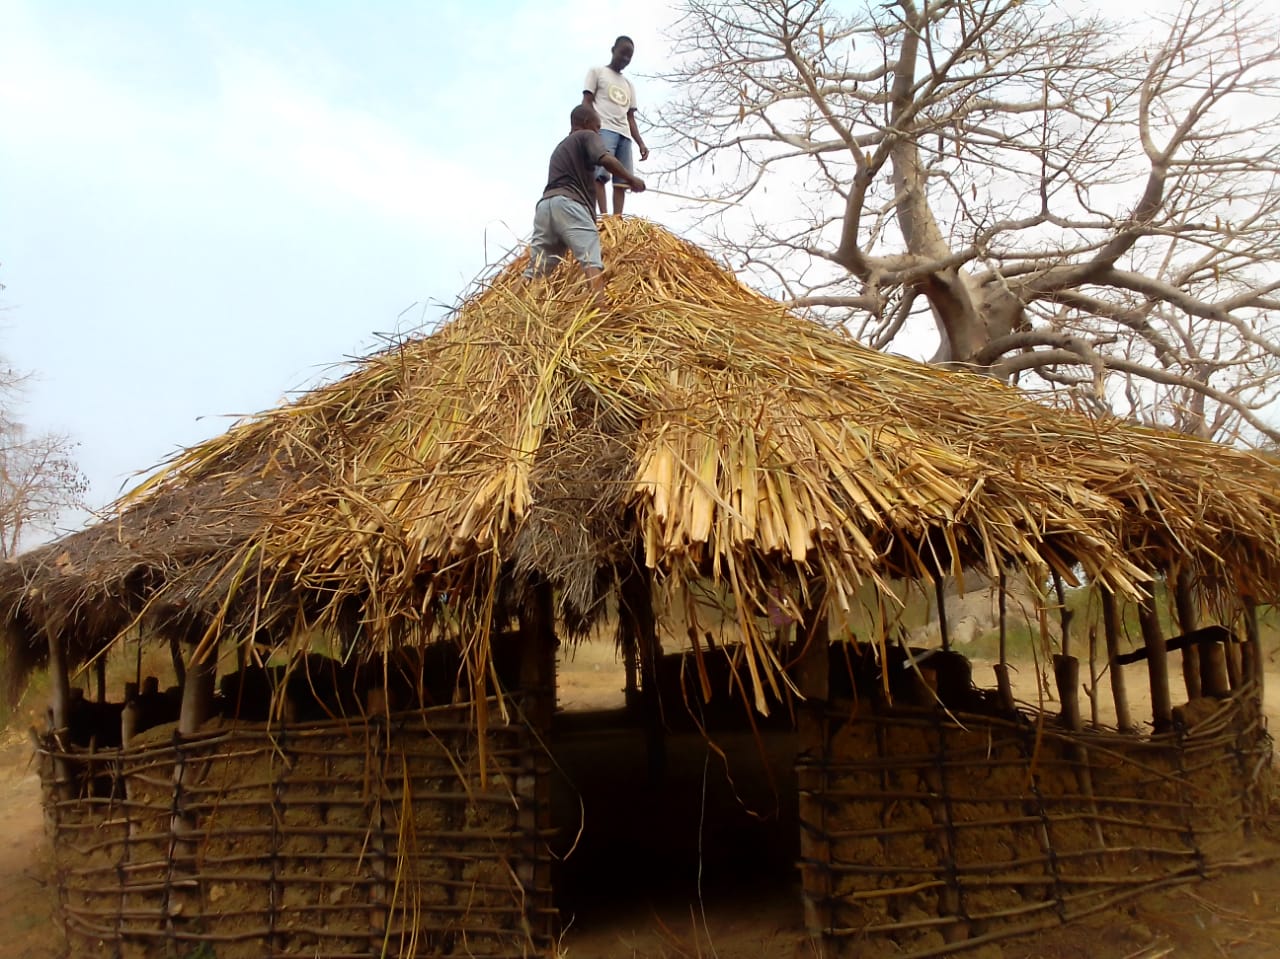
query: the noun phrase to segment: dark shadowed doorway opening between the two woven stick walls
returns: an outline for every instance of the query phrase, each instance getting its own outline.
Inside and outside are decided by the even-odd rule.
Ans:
[[[764,730],[759,740],[750,731],[709,740],[668,732],[664,772],[652,781],[645,731],[625,711],[568,712],[557,716],[552,754],[563,857],[553,886],[564,924],[687,915],[756,898],[797,903],[791,730]],[[795,912],[799,923],[799,903]]]

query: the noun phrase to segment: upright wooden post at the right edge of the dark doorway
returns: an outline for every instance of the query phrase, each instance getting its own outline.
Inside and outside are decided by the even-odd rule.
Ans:
[[[832,926],[831,841],[827,834],[827,699],[829,654],[827,617],[805,611],[805,636],[795,666],[804,702],[796,711],[796,775],[800,787],[800,881],[809,936],[822,947]]]

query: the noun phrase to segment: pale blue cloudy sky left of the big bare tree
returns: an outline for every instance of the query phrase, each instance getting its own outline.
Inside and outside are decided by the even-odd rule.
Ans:
[[[79,442],[101,507],[378,333],[438,321],[527,239],[618,33],[641,113],[658,97],[644,74],[671,19],[613,0],[0,0],[0,356],[36,374],[20,417]],[[673,228],[677,207],[630,206]]]

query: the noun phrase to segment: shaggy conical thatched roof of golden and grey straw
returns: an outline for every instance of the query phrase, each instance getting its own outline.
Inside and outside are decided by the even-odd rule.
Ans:
[[[748,600],[1047,565],[1117,592],[1189,566],[1270,597],[1276,470],[867,350],[643,222],[605,220],[608,309],[508,265],[438,332],[177,457],[114,519],[0,571],[10,647],[486,627],[531,576],[591,621],[643,551]],[[750,602],[742,602],[748,608]]]

